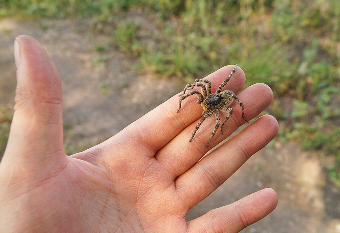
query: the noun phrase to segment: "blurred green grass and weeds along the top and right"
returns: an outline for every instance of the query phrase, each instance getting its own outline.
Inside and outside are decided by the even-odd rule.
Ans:
[[[329,174],[340,186],[340,1],[6,0],[0,8],[0,17],[91,17],[139,69],[185,82],[238,63],[246,86],[273,89],[279,138],[333,157]],[[105,57],[92,64],[105,69]]]

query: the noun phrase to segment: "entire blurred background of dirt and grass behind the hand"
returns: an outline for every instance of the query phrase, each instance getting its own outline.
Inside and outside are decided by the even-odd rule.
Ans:
[[[68,155],[237,63],[245,87],[273,89],[263,114],[279,133],[187,219],[272,187],[278,207],[242,232],[340,232],[340,1],[1,0],[0,156],[20,34],[35,37],[60,72]]]

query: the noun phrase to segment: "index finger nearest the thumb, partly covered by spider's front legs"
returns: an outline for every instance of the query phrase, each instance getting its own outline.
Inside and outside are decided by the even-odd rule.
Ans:
[[[212,92],[217,90],[234,67],[235,65],[222,67],[205,77],[205,79],[211,82]],[[242,89],[244,83],[244,72],[241,68],[238,68],[224,89],[229,89],[237,93]],[[155,153],[170,142],[184,128],[202,117],[202,107],[195,104],[196,101],[197,98],[187,98],[182,104],[181,111],[176,113],[179,106],[179,96],[175,95],[130,124],[119,134],[121,136],[125,134],[134,142],[144,145]]]

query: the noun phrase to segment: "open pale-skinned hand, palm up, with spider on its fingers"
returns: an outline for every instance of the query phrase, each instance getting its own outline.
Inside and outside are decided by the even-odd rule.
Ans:
[[[16,38],[15,62],[15,113],[0,164],[0,232],[234,233],[276,207],[277,195],[267,188],[185,221],[190,208],[274,138],[278,125],[272,116],[258,118],[200,160],[245,123],[241,109],[234,108],[224,135],[216,133],[205,148],[214,119],[189,143],[202,108],[197,98],[187,98],[176,113],[176,94],[112,138],[66,156],[57,69],[29,36]],[[233,68],[206,77],[213,91]],[[237,93],[250,120],[270,105],[273,94],[265,84],[238,93],[244,82],[238,68],[225,89]]]

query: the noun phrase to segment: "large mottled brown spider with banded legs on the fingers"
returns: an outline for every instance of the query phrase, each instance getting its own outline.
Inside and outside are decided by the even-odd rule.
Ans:
[[[202,79],[202,78],[196,78],[195,82],[193,84],[187,84],[184,88],[184,91],[182,94],[180,94],[179,96],[183,95],[180,98],[180,104],[179,104],[179,109],[177,110],[177,113],[180,111],[181,109],[181,103],[182,101],[193,94],[197,94],[198,95],[198,100],[197,100],[197,104],[201,104],[201,106],[203,107],[203,117],[201,118],[200,122],[196,125],[195,129],[192,132],[190,141],[193,139],[193,137],[195,136],[196,131],[198,130],[198,128],[200,127],[200,125],[202,124],[202,122],[208,118],[211,117],[212,114],[215,112],[216,115],[216,126],[214,131],[211,133],[211,136],[209,138],[209,140],[207,141],[207,145],[205,146],[205,148],[208,148],[208,144],[210,142],[210,140],[212,139],[212,137],[214,137],[216,131],[218,130],[219,126],[220,126],[220,113],[218,110],[221,110],[222,112],[226,112],[228,113],[227,116],[225,117],[225,120],[223,122],[223,124],[221,125],[221,133],[223,135],[223,126],[225,124],[225,122],[230,118],[230,116],[233,114],[233,109],[232,108],[227,108],[228,105],[230,105],[233,100],[235,99],[240,106],[242,107],[242,118],[248,122],[245,118],[244,118],[244,107],[242,102],[239,100],[239,98],[234,94],[234,92],[232,92],[231,90],[224,90],[222,91],[223,87],[227,84],[227,82],[229,81],[229,79],[233,76],[233,74],[236,72],[237,69],[237,64],[235,66],[235,68],[232,70],[232,72],[229,74],[228,77],[226,77],[226,79],[224,80],[224,82],[219,86],[219,88],[217,89],[216,93],[211,93],[211,83],[209,82],[209,80],[207,79]],[[205,87],[205,85],[203,83],[198,83],[198,82],[203,82],[206,83],[207,86]],[[194,90],[189,92],[188,94],[184,95],[186,90],[190,90],[193,89],[194,87],[201,87],[202,88],[202,93],[199,92],[198,90]],[[222,91],[222,92],[221,92]],[[249,122],[248,122],[249,123]]]

